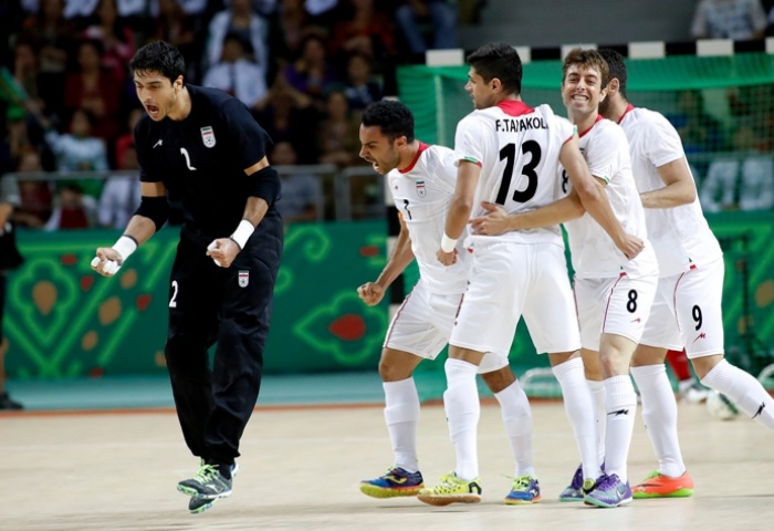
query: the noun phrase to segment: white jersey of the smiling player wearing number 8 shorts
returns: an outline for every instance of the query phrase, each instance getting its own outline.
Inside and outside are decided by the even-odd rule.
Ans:
[[[645,209],[631,176],[629,145],[624,129],[599,116],[580,135],[580,150],[592,175],[607,183],[605,192],[624,231],[644,240],[645,248],[634,260],[629,260],[618,250],[605,229],[586,212],[565,223],[575,275],[592,279],[615,278],[627,273],[640,278],[656,273],[658,262],[648,242]]]

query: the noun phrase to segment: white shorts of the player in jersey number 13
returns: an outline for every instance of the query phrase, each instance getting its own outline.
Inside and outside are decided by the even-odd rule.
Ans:
[[[473,248],[473,267],[449,343],[508,357],[524,315],[538,353],[580,346],[564,249],[496,241]]]

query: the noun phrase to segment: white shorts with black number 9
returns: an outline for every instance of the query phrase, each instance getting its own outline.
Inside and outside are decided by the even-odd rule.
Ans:
[[[681,351],[688,357],[723,354],[723,275],[720,258],[684,273],[659,279],[640,343]]]

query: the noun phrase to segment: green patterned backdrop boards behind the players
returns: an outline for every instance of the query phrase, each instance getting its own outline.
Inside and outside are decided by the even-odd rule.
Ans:
[[[774,361],[774,214],[708,218],[725,252],[726,351],[756,374]],[[116,278],[95,275],[88,266],[94,249],[117,236],[107,230],[19,233],[27,263],[9,280],[4,327],[10,377],[164,374],[168,272],[177,231],[156,235]],[[268,373],[376,369],[388,308],[386,302],[364,305],[355,290],[384,267],[385,240],[381,221],[287,229]],[[407,274],[407,285],[412,279],[416,270]],[[519,371],[547,366],[522,325],[511,361]],[[420,367],[420,375],[442,375],[440,363]],[[442,386],[442,378],[438,382]]]

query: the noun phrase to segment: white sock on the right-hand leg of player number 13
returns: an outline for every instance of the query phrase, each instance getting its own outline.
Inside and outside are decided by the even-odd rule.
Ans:
[[[599,477],[599,455],[597,445],[597,419],[592,389],[584,376],[583,360],[577,357],[552,367],[562,386],[564,410],[575,433],[580,452],[584,478]],[[602,386],[602,382],[599,382]],[[604,386],[603,386],[604,397]]]

